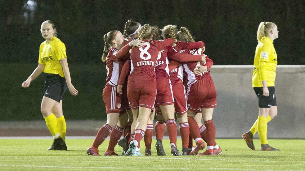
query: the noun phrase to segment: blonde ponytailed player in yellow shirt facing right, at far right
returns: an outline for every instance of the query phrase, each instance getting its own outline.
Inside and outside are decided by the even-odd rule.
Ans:
[[[258,132],[261,151],[278,151],[270,147],[267,141],[267,123],[277,115],[275,97],[275,77],[277,55],[273,40],[278,38],[279,31],[272,22],[261,22],[258,26],[258,45],[255,50],[252,87],[258,97],[258,119],[250,130],[242,135],[248,147],[255,150],[253,135]]]

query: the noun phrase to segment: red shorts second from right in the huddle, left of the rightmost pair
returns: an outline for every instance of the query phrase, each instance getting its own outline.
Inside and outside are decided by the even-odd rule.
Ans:
[[[187,112],[185,88],[183,84],[172,85],[175,100],[175,113],[185,114]]]

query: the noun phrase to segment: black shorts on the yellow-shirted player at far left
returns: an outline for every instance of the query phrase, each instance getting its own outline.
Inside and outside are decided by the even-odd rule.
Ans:
[[[66,79],[58,74],[44,73],[46,80],[44,82],[44,95],[57,102],[62,100],[62,96],[68,89]]]

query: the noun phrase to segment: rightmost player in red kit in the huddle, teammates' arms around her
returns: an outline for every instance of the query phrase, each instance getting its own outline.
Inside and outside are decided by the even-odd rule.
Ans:
[[[177,40],[194,41],[188,29],[184,27],[182,27],[180,31],[177,33]],[[191,49],[191,50],[185,50],[182,53],[203,54],[203,50]],[[187,73],[187,79],[188,79],[187,115],[188,115],[189,124],[192,126],[192,129],[195,129],[195,131],[193,132],[191,131],[191,134],[196,142],[196,139],[201,139],[199,138],[201,136],[200,134],[198,135],[199,129],[196,121],[194,120],[194,117],[196,112],[201,108],[202,118],[204,120],[204,125],[206,127],[208,138],[207,138],[207,150],[203,153],[200,153],[199,155],[213,155],[216,131],[212,117],[213,117],[213,109],[214,107],[217,106],[217,101],[216,101],[217,94],[216,94],[215,84],[208,70],[211,65],[206,66],[207,70],[204,71],[204,73],[199,74],[196,72],[197,75],[193,73],[196,66],[200,66],[200,65],[201,65],[200,62],[187,62],[186,64],[183,65],[185,72]],[[198,151],[201,149],[199,145],[200,144],[196,142],[196,146],[191,153],[194,154],[198,153]]]

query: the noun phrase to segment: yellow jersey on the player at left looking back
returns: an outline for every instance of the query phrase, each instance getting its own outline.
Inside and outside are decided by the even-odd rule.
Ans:
[[[38,63],[45,65],[43,72],[64,77],[64,71],[59,63],[63,58],[67,58],[66,47],[57,37],[53,36],[49,44],[47,41],[41,43]]]

